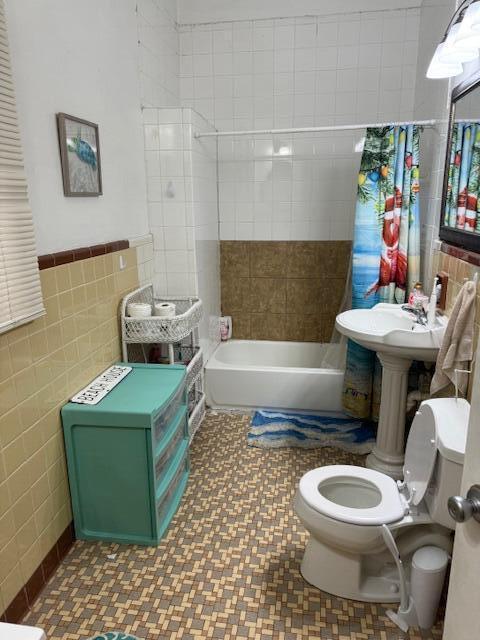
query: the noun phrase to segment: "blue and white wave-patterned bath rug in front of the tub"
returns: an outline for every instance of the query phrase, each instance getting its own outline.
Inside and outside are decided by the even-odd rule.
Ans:
[[[279,411],[255,411],[247,435],[248,445],[280,447],[337,447],[350,453],[370,453],[375,424],[339,414],[319,416]]]

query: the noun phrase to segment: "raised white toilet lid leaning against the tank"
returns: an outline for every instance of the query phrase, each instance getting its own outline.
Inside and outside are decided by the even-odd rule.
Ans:
[[[423,500],[437,457],[435,415],[428,402],[423,402],[415,414],[405,450],[403,479],[408,487],[410,504]]]

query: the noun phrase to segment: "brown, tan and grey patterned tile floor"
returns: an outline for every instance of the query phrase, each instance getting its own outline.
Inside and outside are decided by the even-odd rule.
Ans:
[[[315,466],[362,459],[330,448],[249,448],[249,419],[208,415],[193,443],[187,492],[157,548],[77,542],[25,623],[43,627],[48,640],[102,630],[144,640],[441,638],[441,626],[404,636],[384,607],[303,580],[296,483]]]

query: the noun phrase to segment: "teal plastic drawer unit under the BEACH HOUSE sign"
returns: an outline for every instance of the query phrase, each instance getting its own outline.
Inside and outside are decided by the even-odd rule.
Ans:
[[[62,409],[75,533],[156,545],[188,481],[186,368],[128,366],[97,405]]]

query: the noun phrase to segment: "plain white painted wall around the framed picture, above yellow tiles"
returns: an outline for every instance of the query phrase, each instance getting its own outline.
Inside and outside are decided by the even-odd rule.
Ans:
[[[135,1],[5,4],[38,253],[144,235]],[[99,198],[63,195],[59,111],[100,125]]]

